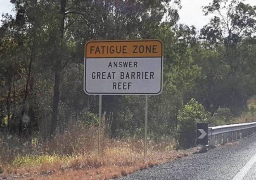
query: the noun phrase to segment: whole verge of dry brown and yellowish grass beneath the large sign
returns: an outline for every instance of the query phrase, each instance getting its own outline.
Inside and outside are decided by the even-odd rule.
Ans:
[[[86,129],[80,124],[70,127],[48,143],[37,140],[17,146],[7,142],[9,148],[0,143],[0,178],[105,180],[192,154],[192,150],[173,150],[173,142],[150,141],[144,159],[142,140],[111,140],[107,136],[102,137],[98,154],[96,128]]]

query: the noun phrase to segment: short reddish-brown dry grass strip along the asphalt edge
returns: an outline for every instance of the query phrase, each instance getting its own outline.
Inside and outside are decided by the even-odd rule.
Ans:
[[[190,153],[190,152],[189,152]],[[117,156],[104,156],[99,160],[98,157],[95,157],[94,166],[86,168],[86,166],[92,165],[92,159],[80,159],[76,160],[75,165],[71,169],[66,169],[64,171],[55,171],[50,176],[37,176],[36,179],[47,180],[47,179],[97,179],[97,180],[106,180],[111,178],[119,178],[121,176],[126,176],[135,171],[141,171],[147,169],[148,167],[153,167],[155,165],[165,163],[167,161],[186,156],[185,152],[176,152],[176,151],[166,151],[166,152],[157,152],[153,156],[150,156],[150,160],[140,158],[134,159],[133,161],[127,160],[123,157],[125,154],[116,154]],[[122,157],[120,157],[122,155]],[[166,158],[167,157],[167,158]],[[93,161],[93,162],[94,162]],[[99,166],[99,164],[101,166]]]

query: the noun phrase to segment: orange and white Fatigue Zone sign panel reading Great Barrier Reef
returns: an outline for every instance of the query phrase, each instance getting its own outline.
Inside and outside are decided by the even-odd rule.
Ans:
[[[162,42],[89,41],[84,76],[88,95],[159,95],[163,86]]]

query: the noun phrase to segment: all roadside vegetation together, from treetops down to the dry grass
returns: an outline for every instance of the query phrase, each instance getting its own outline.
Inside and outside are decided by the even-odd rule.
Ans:
[[[256,7],[213,0],[201,30],[178,24],[182,0],[12,0],[0,25],[0,178],[109,179],[190,155],[195,125],[256,115]],[[149,97],[83,92],[88,40],[160,39],[164,90]],[[49,176],[51,175],[51,176]]]

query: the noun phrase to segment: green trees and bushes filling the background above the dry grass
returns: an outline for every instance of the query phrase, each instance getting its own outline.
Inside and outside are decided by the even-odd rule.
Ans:
[[[12,135],[24,129],[23,113],[31,119],[31,135],[42,140],[52,122],[56,133],[69,130],[71,121],[97,126],[98,97],[83,92],[88,40],[164,42],[164,90],[149,97],[150,139],[175,135],[181,147],[194,146],[194,125],[208,121],[207,111],[213,124],[232,123],[230,117],[246,110],[256,94],[256,7],[243,0],[213,0],[204,7],[215,16],[200,34],[177,24],[180,0],[12,3],[17,14],[4,15],[0,27],[0,130]],[[183,107],[191,98],[198,102]],[[253,116],[255,108],[248,109]],[[144,97],[104,95],[102,113],[111,137],[144,136]]]

